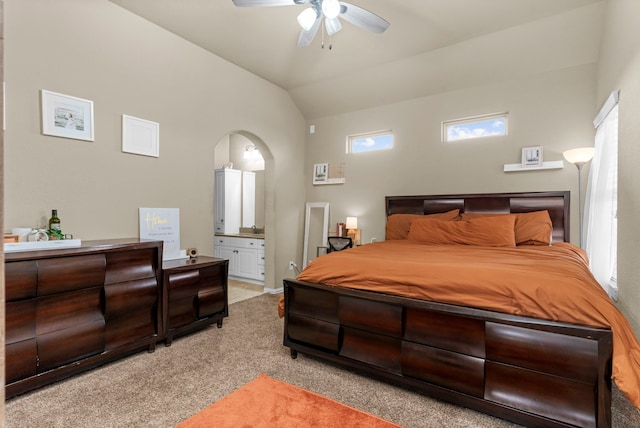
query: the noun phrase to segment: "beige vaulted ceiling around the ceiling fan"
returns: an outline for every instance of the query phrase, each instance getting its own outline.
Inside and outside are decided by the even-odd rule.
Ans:
[[[350,0],[391,26],[343,21],[324,48],[320,33],[297,46],[308,5],[110,1],[282,87],[315,119],[596,62],[605,0]]]

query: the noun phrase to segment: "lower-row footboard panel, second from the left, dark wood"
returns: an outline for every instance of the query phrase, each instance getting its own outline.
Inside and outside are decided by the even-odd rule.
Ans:
[[[401,340],[355,328],[341,327],[340,355],[396,373],[401,372]]]

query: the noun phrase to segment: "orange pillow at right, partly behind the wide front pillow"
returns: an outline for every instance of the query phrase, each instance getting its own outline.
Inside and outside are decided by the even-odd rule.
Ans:
[[[532,211],[515,214],[462,213],[460,219],[512,215],[516,218],[516,245],[549,245],[553,233],[553,223],[549,211]]]

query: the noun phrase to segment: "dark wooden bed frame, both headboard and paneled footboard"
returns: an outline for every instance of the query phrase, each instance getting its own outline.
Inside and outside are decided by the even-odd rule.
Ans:
[[[569,192],[393,196],[387,215],[548,210],[569,240]],[[610,329],[293,279],[284,345],[526,426],[611,426]]]

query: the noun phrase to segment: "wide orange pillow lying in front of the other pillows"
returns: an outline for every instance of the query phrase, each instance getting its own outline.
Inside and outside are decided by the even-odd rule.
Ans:
[[[515,247],[515,217],[490,216],[460,221],[418,219],[411,223],[409,240],[421,244]]]

